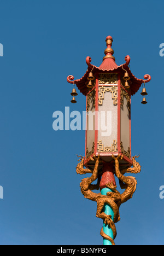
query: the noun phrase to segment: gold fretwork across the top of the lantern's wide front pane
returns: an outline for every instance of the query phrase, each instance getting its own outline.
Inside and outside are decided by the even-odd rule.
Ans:
[[[111,92],[112,93],[112,100],[113,104],[117,105],[118,104],[118,86],[99,86],[98,88],[98,105],[102,106],[103,100],[104,100],[104,94],[106,92]]]

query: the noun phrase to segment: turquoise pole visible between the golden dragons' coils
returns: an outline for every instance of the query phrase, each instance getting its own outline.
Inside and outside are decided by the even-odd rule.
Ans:
[[[102,195],[107,195],[108,192],[113,192],[113,191],[109,188],[103,188],[101,190]],[[112,220],[114,219],[114,212],[113,212],[112,208],[107,203],[104,205],[103,212],[106,213],[107,215],[111,215]],[[106,235],[110,236],[112,239],[114,238],[112,229],[110,229],[110,226],[108,226],[104,223],[103,223],[103,231]],[[110,241],[108,241],[107,239],[104,239],[103,245],[112,245],[112,243]]]

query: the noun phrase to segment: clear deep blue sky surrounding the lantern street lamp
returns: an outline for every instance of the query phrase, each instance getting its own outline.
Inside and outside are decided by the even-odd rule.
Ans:
[[[102,63],[112,36],[116,63],[131,56],[138,78],[150,74],[148,104],[132,97],[132,154],[140,154],[133,199],[120,208],[117,245],[163,245],[163,1],[1,0],[0,200],[1,245],[102,245],[96,203],[80,193],[75,172],[85,131],[54,131],[56,110],[71,104],[86,56]]]

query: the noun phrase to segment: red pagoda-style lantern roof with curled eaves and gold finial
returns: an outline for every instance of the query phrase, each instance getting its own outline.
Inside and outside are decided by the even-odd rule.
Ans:
[[[83,95],[87,95],[87,92],[89,91],[89,88],[87,88],[86,86],[86,82],[87,82],[87,77],[89,76],[89,73],[92,72],[93,75],[95,75],[96,73],[120,73],[122,75],[122,77],[124,77],[125,72],[128,72],[129,77],[131,78],[131,85],[130,85],[130,91],[131,91],[131,95],[136,94],[136,92],[139,90],[140,86],[143,83],[148,83],[151,80],[150,75],[145,74],[144,75],[144,79],[138,79],[136,78],[131,70],[130,67],[128,66],[130,63],[130,56],[126,56],[125,57],[125,61],[126,63],[118,66],[115,62],[115,58],[113,56],[113,49],[111,48],[112,46],[112,42],[113,42],[113,38],[108,36],[106,38],[106,42],[107,42],[107,49],[105,50],[105,54],[106,56],[103,57],[103,62],[99,67],[96,67],[94,65],[91,64],[91,57],[86,57],[86,63],[87,63],[87,71],[84,74],[84,76],[78,80],[74,80],[73,75],[69,75],[67,77],[67,81],[68,83],[71,84],[76,84],[78,89],[80,90],[80,92]]]

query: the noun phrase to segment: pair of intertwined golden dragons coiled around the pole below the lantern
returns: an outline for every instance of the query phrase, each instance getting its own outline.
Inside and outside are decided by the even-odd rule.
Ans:
[[[121,189],[125,189],[125,191],[120,194],[118,190],[116,190],[116,185],[113,182],[106,184],[106,187],[111,189],[113,192],[108,192],[107,195],[102,195],[101,193],[93,193],[93,190],[99,190],[99,183],[101,181],[101,171],[98,171],[99,162],[101,162],[100,155],[96,156],[93,155],[93,158],[90,157],[92,161],[95,161],[95,168],[94,170],[90,170],[89,168],[84,168],[84,157],[78,156],[80,161],[76,167],[78,174],[86,174],[91,173],[91,177],[87,177],[82,179],[80,183],[81,193],[84,195],[86,199],[96,201],[97,202],[97,213],[96,217],[101,218],[104,221],[104,224],[110,226],[113,231],[114,239],[116,237],[116,227],[115,223],[119,222],[120,220],[120,213],[119,208],[122,203],[126,202],[127,200],[131,199],[134,192],[136,191],[137,181],[136,178],[132,176],[124,176],[125,173],[139,173],[141,170],[141,166],[136,161],[136,158],[139,156],[133,156],[133,167],[125,168],[124,170],[120,171],[119,162],[122,160],[123,155],[114,156],[112,158],[115,162],[115,175],[119,179]],[[92,184],[92,182],[97,180],[97,184]],[[108,204],[113,212],[114,212],[114,219],[112,220],[112,216],[108,216],[106,213],[103,212],[103,208],[105,204]],[[115,245],[114,240],[106,235],[101,229],[101,236],[107,240],[109,240],[112,245]]]

